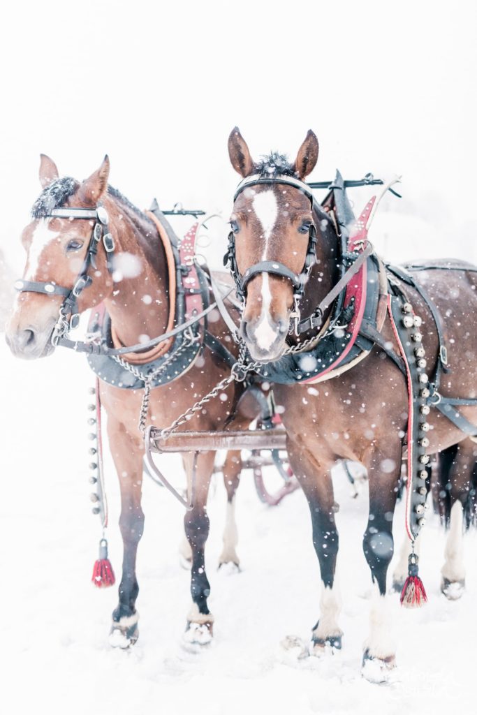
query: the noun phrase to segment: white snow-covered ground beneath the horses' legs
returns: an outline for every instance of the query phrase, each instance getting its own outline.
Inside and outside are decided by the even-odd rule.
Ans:
[[[40,706],[51,715],[360,715],[377,709],[437,714],[475,709],[476,534],[465,540],[468,589],[461,601],[452,603],[439,591],[444,534],[438,520],[430,519],[421,558],[428,604],[420,611],[405,611],[393,596],[396,681],[372,685],[360,676],[370,606],[369,571],[360,546],[367,500],[365,492],[351,499],[350,485],[340,473],[335,478],[345,631],[340,654],[297,664],[287,662],[280,650],[283,636],[308,637],[318,618],[318,563],[303,494],[295,492],[277,508],[267,508],[258,501],[249,473],[237,495],[241,573],[217,572],[225,521],[220,480],[210,494],[207,573],[216,618],[214,644],[197,655],[182,649],[190,605],[189,575],[177,554],[182,509],[146,478],[146,527],[137,569],[139,641],[130,652],[110,649],[107,634],[117,587],[99,591],[89,581],[100,536],[97,517],[90,513],[87,480],[91,375],[78,355],[56,352],[25,363],[14,360],[2,342],[4,712]],[[107,485],[110,556],[119,575],[119,504],[109,459]],[[402,506],[396,513],[395,538],[399,545]]]

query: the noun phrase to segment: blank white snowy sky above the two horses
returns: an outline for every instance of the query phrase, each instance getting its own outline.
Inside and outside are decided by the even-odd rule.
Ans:
[[[294,157],[314,129],[317,180],[403,174],[405,200],[387,199],[375,225],[388,254],[403,240],[406,257],[477,260],[476,28],[472,0],[9,4],[0,247],[20,270],[39,152],[78,179],[107,152],[111,183],[139,206],[156,195],[228,217],[238,124],[255,157]]]

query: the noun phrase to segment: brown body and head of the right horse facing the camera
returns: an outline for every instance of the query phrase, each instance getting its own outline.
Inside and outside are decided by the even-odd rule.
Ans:
[[[303,318],[313,315],[340,275],[340,245],[331,217],[319,204],[310,203],[310,191],[303,183],[318,160],[318,140],[308,132],[292,164],[280,154],[272,154],[257,164],[237,128],[230,134],[228,149],[236,171],[242,177],[254,177],[240,184],[230,220],[236,260],[232,270],[236,278],[242,277],[245,286],[242,337],[254,360],[275,363],[280,368],[285,349],[298,342],[289,326],[290,317],[296,315],[294,292],[300,286],[297,277],[300,272],[303,275],[303,267],[310,267],[300,300]],[[316,237],[315,258],[307,262],[312,229]],[[254,270],[250,271],[252,266]],[[285,266],[287,273],[280,266]],[[418,281],[426,285],[451,347],[451,371],[443,378],[441,393],[475,398],[477,334],[473,325],[477,274],[471,270],[422,270]],[[423,345],[431,373],[438,355],[436,324],[420,293],[407,286],[406,291],[423,320]],[[325,307],[325,326],[330,310]],[[302,337],[308,339],[316,332],[310,330]],[[383,345],[399,352],[387,314],[381,333]],[[330,470],[338,459],[355,460],[368,470],[370,509],[363,550],[378,590],[371,609],[363,668],[365,672],[378,671],[378,679],[385,679],[395,666],[386,575],[393,555],[391,529],[408,423],[405,378],[393,360],[375,346],[364,360],[319,384],[318,389],[297,383],[277,384],[274,394],[277,404],[284,408],[282,421],[287,430],[290,464],[308,499],[313,544],[320,563],[323,591],[320,620],[313,628],[315,651],[322,651],[327,643],[340,647],[342,636],[335,584],[338,532]],[[475,406],[463,407],[462,413],[477,423]],[[436,410],[432,410],[428,422],[428,454],[456,444],[465,436]]]

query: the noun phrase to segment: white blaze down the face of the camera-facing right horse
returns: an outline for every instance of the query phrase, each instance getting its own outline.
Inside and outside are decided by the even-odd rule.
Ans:
[[[264,238],[264,246],[262,252],[262,261],[267,260],[268,244],[270,236],[275,227],[278,216],[278,204],[272,189],[262,191],[260,194],[255,194],[252,202],[255,215],[260,222]],[[257,345],[262,350],[268,350],[275,342],[276,332],[270,322],[270,304],[272,302],[272,294],[270,293],[270,282],[268,273],[262,274],[262,312],[260,321],[255,330]]]

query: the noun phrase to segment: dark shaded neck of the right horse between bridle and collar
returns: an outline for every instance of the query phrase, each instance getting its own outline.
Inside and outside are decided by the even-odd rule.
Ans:
[[[338,261],[340,260],[338,237],[329,220],[325,219],[324,213],[318,213],[313,209],[313,221],[316,226],[317,262],[310,270],[310,277],[305,287],[301,307],[303,317],[311,315],[318,303],[338,282]],[[322,225],[326,228],[322,228]],[[328,312],[325,313],[325,317],[327,315]]]

